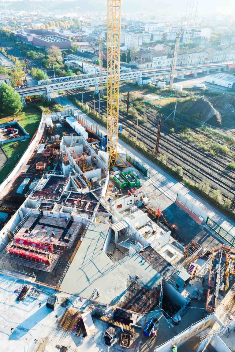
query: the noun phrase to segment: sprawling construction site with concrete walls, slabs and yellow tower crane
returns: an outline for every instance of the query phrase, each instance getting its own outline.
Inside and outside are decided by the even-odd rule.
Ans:
[[[42,115],[0,185],[3,351],[235,350],[234,235],[118,144],[120,17],[108,1],[107,129]]]

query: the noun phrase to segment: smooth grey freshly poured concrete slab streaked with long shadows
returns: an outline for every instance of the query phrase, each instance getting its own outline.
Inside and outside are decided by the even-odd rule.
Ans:
[[[86,298],[96,298],[94,289],[100,292],[99,301],[117,304],[127,291],[126,283],[137,274],[140,281],[152,288],[161,275],[138,253],[113,263],[104,253],[103,244],[109,225],[91,223],[61,284],[61,290]]]

